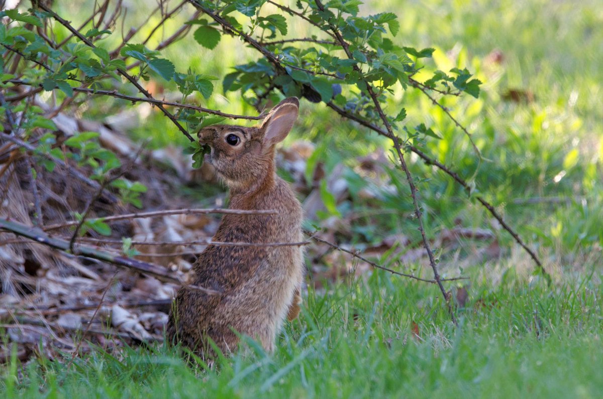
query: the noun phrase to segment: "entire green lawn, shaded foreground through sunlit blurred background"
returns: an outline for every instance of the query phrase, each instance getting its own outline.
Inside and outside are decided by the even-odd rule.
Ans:
[[[500,233],[501,246],[511,248],[505,257],[464,271],[471,278],[470,300],[458,310],[458,328],[450,323],[435,287],[374,272],[349,286],[310,290],[303,314],[286,327],[273,355],[251,344],[210,371],[187,365],[165,347],[116,353],[99,348],[71,369],[43,357],[24,368],[13,361],[2,369],[2,397],[601,395],[603,31],[598,27],[603,9],[595,0],[390,0],[367,8],[399,14],[397,44],[437,47],[426,69],[469,66],[484,81],[479,99],[446,100],[488,159],[481,163],[466,137],[421,93],[400,90],[388,105],[405,106],[409,125],[427,121],[443,137],[428,142],[429,151],[459,174],[470,178],[479,167],[479,192],[537,248],[554,274],[554,285],[532,277],[525,253]],[[488,64],[494,49],[504,55],[503,64]],[[166,52],[180,61],[178,69],[190,65],[217,76],[255,57],[230,37],[212,53],[220,54],[219,59],[208,54],[190,40]],[[511,89],[534,93],[534,101],[505,100]],[[106,105],[90,115],[114,112],[115,104],[103,101]],[[201,105],[253,113],[232,94],[215,95]],[[147,123],[131,131],[133,137],[151,136],[155,146],[183,142],[160,115],[151,114]],[[353,172],[354,157],[387,148],[384,140],[366,137],[364,130],[333,118],[321,105],[303,104],[294,135],[324,151],[327,172],[339,162],[349,165],[351,186],[364,184]],[[414,175],[429,179],[420,184],[429,234],[458,218],[465,225],[488,226],[490,216],[480,206],[440,172],[415,161],[411,159]],[[373,206],[409,215],[403,177],[394,171],[391,178],[399,192]],[[562,201],[515,201],[551,196]],[[367,204],[355,198],[346,206],[352,212]],[[355,235],[358,240],[415,231],[415,221],[392,218],[391,213],[359,221],[364,225],[358,228],[362,237]]]

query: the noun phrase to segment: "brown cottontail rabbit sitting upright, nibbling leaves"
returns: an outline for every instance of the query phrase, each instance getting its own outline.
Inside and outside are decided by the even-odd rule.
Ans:
[[[257,127],[214,125],[198,134],[211,147],[210,163],[230,188],[232,209],[275,210],[270,215],[226,214],[216,242],[300,242],[302,211],[288,183],[275,173],[274,146],[297,119],[299,102],[287,98]],[[210,338],[223,352],[233,351],[239,334],[259,339],[267,351],[285,316],[299,312],[303,258],[298,246],[209,245],[193,266],[191,284],[215,289],[207,295],[178,290],[167,337],[197,354],[213,357]]]

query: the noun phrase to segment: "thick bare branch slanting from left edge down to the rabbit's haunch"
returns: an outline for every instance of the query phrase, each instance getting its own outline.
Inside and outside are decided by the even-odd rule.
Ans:
[[[35,242],[42,243],[47,247],[56,248],[57,250],[67,252],[69,250],[69,242],[62,239],[57,239],[48,236],[44,231],[37,227],[30,227],[21,223],[8,221],[7,219],[0,218],[0,229],[10,231],[17,236],[27,237],[28,239],[34,240]],[[128,269],[133,269],[137,272],[144,274],[153,275],[154,277],[160,278],[165,281],[169,281],[176,284],[183,284],[178,278],[169,275],[169,272],[161,266],[153,265],[152,263],[141,262],[140,260],[131,259],[128,257],[118,256],[115,254],[108,253],[106,251],[99,250],[97,248],[85,247],[83,245],[77,245],[74,247],[74,254],[78,256],[86,256],[92,259],[103,260],[104,262],[112,263],[113,265],[123,266]],[[213,289],[207,289],[203,287],[190,286],[191,289],[204,292],[208,295],[220,294],[218,291]]]

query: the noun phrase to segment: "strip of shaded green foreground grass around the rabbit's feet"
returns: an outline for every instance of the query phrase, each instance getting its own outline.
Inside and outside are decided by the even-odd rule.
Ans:
[[[508,273],[513,274],[512,269]],[[603,291],[549,289],[512,275],[470,289],[454,328],[435,287],[376,272],[328,295],[311,291],[276,353],[251,344],[217,370],[174,350],[102,349],[65,363],[5,370],[3,397],[597,397]],[[416,323],[416,327],[412,325]],[[415,333],[418,336],[415,336]],[[19,385],[14,385],[16,380]]]

